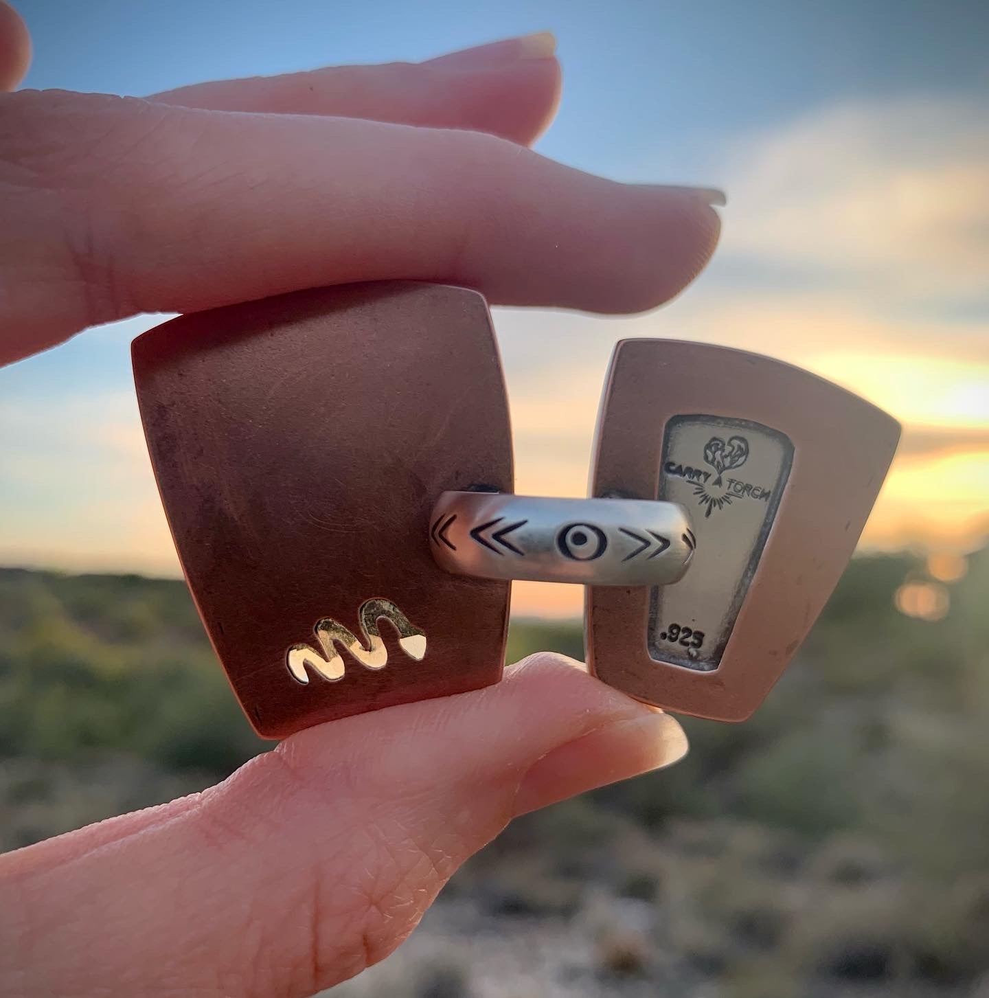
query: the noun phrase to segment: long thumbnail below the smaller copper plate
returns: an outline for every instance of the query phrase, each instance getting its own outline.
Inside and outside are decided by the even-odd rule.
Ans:
[[[688,749],[683,728],[668,714],[650,711],[613,722],[540,758],[519,785],[515,813],[663,769],[682,759]]]

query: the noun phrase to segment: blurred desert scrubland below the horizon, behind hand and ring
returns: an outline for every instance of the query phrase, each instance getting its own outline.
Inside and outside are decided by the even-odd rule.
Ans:
[[[856,558],[747,724],[529,815],[336,998],[989,998],[989,552]],[[509,655],[582,653],[521,622]],[[0,570],[0,848],[266,747],[183,583]]]

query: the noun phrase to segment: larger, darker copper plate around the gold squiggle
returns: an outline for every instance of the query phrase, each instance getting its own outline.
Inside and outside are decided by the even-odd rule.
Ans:
[[[512,491],[479,294],[401,281],[301,291],[167,322],[133,358],[186,578],[259,735],[498,681],[509,583],[449,575],[429,552],[442,491]],[[381,618],[383,667],[380,649],[367,668],[337,642],[342,677],[296,679],[293,646],[328,658],[321,620],[367,645],[358,611],[371,600],[421,637],[400,646]],[[423,644],[418,661],[406,654]]]

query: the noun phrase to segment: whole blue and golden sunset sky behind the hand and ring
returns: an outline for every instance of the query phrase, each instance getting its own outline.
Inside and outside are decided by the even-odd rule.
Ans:
[[[138,95],[553,30],[564,93],[541,153],[620,181],[718,186],[729,205],[712,264],[661,309],[495,309],[516,491],[584,494],[615,341],[687,338],[797,363],[903,422],[863,547],[956,551],[984,536],[989,4],[16,5],[35,43],[26,86]],[[162,318],[0,369],[0,564],[179,574],[129,355]],[[581,597],[517,584],[513,609],[576,615]]]

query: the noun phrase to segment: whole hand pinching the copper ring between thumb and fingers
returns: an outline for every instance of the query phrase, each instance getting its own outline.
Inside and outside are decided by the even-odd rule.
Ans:
[[[385,277],[665,301],[714,250],[719,196],[526,150],[557,103],[549,42],[148,100],[3,95],[0,359],[138,311]],[[0,3],[8,87],[27,44]],[[551,655],[310,729],[203,793],[0,856],[0,992],[311,994],[390,952],[513,816],[686,748]]]

